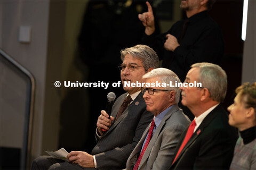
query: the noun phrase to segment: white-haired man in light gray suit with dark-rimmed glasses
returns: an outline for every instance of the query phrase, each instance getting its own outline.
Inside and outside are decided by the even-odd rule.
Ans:
[[[158,68],[143,75],[142,88],[147,111],[154,120],[143,133],[138,145],[127,160],[127,169],[166,169],[171,166],[180,135],[190,123],[177,105],[180,98],[178,76],[169,69]],[[163,86],[163,87],[156,87]],[[166,87],[165,87],[166,85]]]

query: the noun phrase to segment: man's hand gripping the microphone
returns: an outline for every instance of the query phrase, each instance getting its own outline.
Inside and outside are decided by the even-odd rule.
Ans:
[[[109,130],[109,126],[111,125],[112,121],[114,121],[114,117],[110,116],[110,119],[108,118],[109,115],[105,111],[100,112],[100,116],[97,121],[97,127],[100,135],[103,135],[102,128],[105,130]]]

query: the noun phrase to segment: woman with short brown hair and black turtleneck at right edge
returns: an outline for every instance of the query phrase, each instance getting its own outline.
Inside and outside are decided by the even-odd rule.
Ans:
[[[242,84],[236,94],[234,104],[228,107],[228,123],[238,128],[241,136],[230,169],[256,169],[256,82]]]

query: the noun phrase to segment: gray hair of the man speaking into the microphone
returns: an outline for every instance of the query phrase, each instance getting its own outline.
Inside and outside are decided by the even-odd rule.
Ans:
[[[142,61],[142,65],[147,72],[150,67],[154,69],[158,68],[159,61],[156,52],[146,45],[136,45],[134,47],[125,48],[121,50],[121,60],[124,61],[124,57],[130,54],[131,56],[138,58]]]

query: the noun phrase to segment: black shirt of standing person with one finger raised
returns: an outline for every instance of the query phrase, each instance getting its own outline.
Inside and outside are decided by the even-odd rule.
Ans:
[[[220,64],[224,49],[221,29],[207,11],[197,13],[188,20],[185,35],[174,52],[164,48],[165,36],[170,33],[179,40],[183,23],[186,20],[176,22],[169,31],[162,35],[156,36],[153,33],[147,36],[144,34],[142,38],[143,44],[152,47],[156,50],[158,57],[163,59],[162,67],[175,72],[181,82],[185,80],[190,66],[194,63]]]

